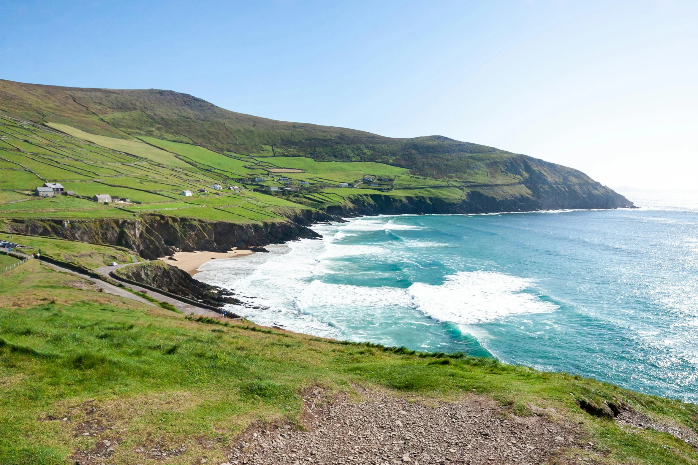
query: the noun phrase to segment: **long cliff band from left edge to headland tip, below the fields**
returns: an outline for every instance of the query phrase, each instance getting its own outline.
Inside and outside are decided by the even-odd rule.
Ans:
[[[232,247],[260,247],[299,238],[315,238],[318,234],[308,228],[310,224],[358,215],[501,213],[632,206],[628,199],[598,183],[532,183],[521,187],[523,190],[508,194],[495,188],[480,188],[468,192],[466,199],[356,195],[348,197],[340,206],[328,206],[326,212],[309,209],[283,212],[288,220],[276,222],[237,224],[142,215],[133,220],[8,219],[3,229],[10,233],[119,245],[152,260],[179,250],[225,252]]]

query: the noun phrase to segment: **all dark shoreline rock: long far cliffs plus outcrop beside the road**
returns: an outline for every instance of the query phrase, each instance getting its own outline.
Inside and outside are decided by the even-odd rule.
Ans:
[[[541,197],[544,201],[521,196],[496,200],[477,191],[469,192],[466,200],[443,197],[357,195],[348,197],[339,206],[327,206],[325,211],[316,209],[290,211],[285,212],[285,221],[249,224],[145,214],[133,220],[10,219],[4,222],[3,229],[9,233],[117,245],[133,250],[144,259],[156,260],[172,256],[177,252],[225,253],[235,247],[237,250],[265,251],[261,247],[269,244],[283,244],[301,238],[319,238],[320,235],[309,228],[313,224],[342,221],[342,218],[364,215],[505,213],[563,208],[632,208],[633,206],[632,202],[625,197],[601,185],[591,186],[595,189],[594,192],[600,192],[599,195],[591,197],[583,195],[583,190],[574,191],[576,195],[570,192],[562,195],[562,192],[558,192],[560,186],[554,187],[556,189],[548,186],[547,195]],[[551,192],[557,194],[551,195]],[[177,268],[171,266],[149,266],[147,270],[140,268],[142,267],[129,267],[130,270],[132,269],[130,273],[136,275],[125,277],[174,295],[205,301],[207,305],[220,307],[225,303],[239,302],[230,296],[223,296],[220,290],[198,289],[198,285],[193,283],[199,283],[199,281]],[[182,276],[178,276],[177,272],[170,268],[181,271]],[[184,275],[188,280],[184,279]]]

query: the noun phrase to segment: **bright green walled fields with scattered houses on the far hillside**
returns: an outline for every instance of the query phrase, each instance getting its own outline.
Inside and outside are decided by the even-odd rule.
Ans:
[[[278,207],[297,210],[307,205],[323,206],[343,201],[341,197],[332,200],[311,199],[295,203],[292,197],[280,195],[248,193],[254,197],[252,213],[247,199],[239,199],[230,192],[214,192],[215,183],[244,185],[247,188],[276,186],[287,187],[281,176],[290,178],[295,188],[302,188],[308,195],[322,192],[339,192],[334,186],[339,183],[355,183],[363,176],[386,177],[391,181],[380,181],[378,190],[369,183],[360,183],[359,193],[390,192],[392,180],[394,190],[390,195],[430,195],[433,197],[456,198],[454,186],[461,181],[445,181],[406,174],[402,167],[378,162],[336,162],[317,161],[313,158],[285,156],[292,150],[272,148],[262,144],[259,153],[238,154],[218,153],[198,145],[141,136],[129,138],[96,135],[69,125],[47,123],[47,126],[21,123],[0,117],[0,218],[127,218],[128,213],[117,208],[98,206],[89,201],[96,194],[118,195],[121,198],[140,202],[131,204],[128,209],[137,215],[141,211],[159,211],[174,216],[186,216],[205,220],[229,222],[263,221],[278,219]],[[280,156],[281,155],[281,156]],[[268,169],[301,169],[302,173],[274,174]],[[491,170],[493,174],[495,170]],[[253,178],[262,177],[262,182]],[[38,199],[31,192],[45,181],[58,181],[66,190],[74,191],[81,198],[57,197]],[[306,181],[306,188],[299,183]],[[327,186],[329,189],[327,190]],[[200,189],[208,192],[201,194]],[[410,189],[412,188],[412,189]],[[334,190],[332,190],[334,189]],[[414,190],[417,189],[417,190]],[[424,190],[429,189],[429,190]],[[196,197],[183,199],[182,190],[197,192]],[[218,195],[225,195],[219,201]],[[181,202],[205,206],[206,210],[193,210],[181,206]],[[167,205],[172,202],[172,205]],[[259,208],[267,211],[260,211]],[[131,216],[133,213],[130,214]]]

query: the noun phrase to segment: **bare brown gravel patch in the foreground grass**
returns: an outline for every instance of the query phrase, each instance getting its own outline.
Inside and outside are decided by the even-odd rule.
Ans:
[[[579,451],[575,462],[594,462],[593,445],[580,445],[572,429],[544,416],[514,416],[482,397],[447,404],[374,396],[324,408],[315,400],[317,391],[306,395],[308,431],[290,425],[248,429],[228,463],[533,465],[565,462],[560,448],[570,447]]]

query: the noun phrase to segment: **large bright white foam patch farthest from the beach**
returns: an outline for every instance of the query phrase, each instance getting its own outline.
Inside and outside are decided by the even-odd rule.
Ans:
[[[558,308],[525,292],[531,280],[490,271],[461,271],[438,286],[415,282],[408,289],[417,310],[439,321],[485,323],[515,314],[545,313]]]

